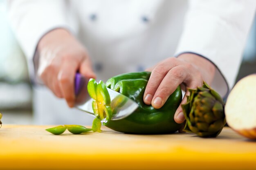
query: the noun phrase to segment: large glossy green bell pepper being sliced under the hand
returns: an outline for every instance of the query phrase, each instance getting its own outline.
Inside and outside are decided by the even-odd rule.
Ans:
[[[139,104],[137,110],[120,120],[110,120],[105,124],[113,130],[133,134],[173,133],[182,124],[174,121],[174,113],[182,100],[180,86],[167,99],[162,108],[155,109],[143,102],[143,95],[150,77],[150,72],[125,73],[108,79],[106,86]]]

